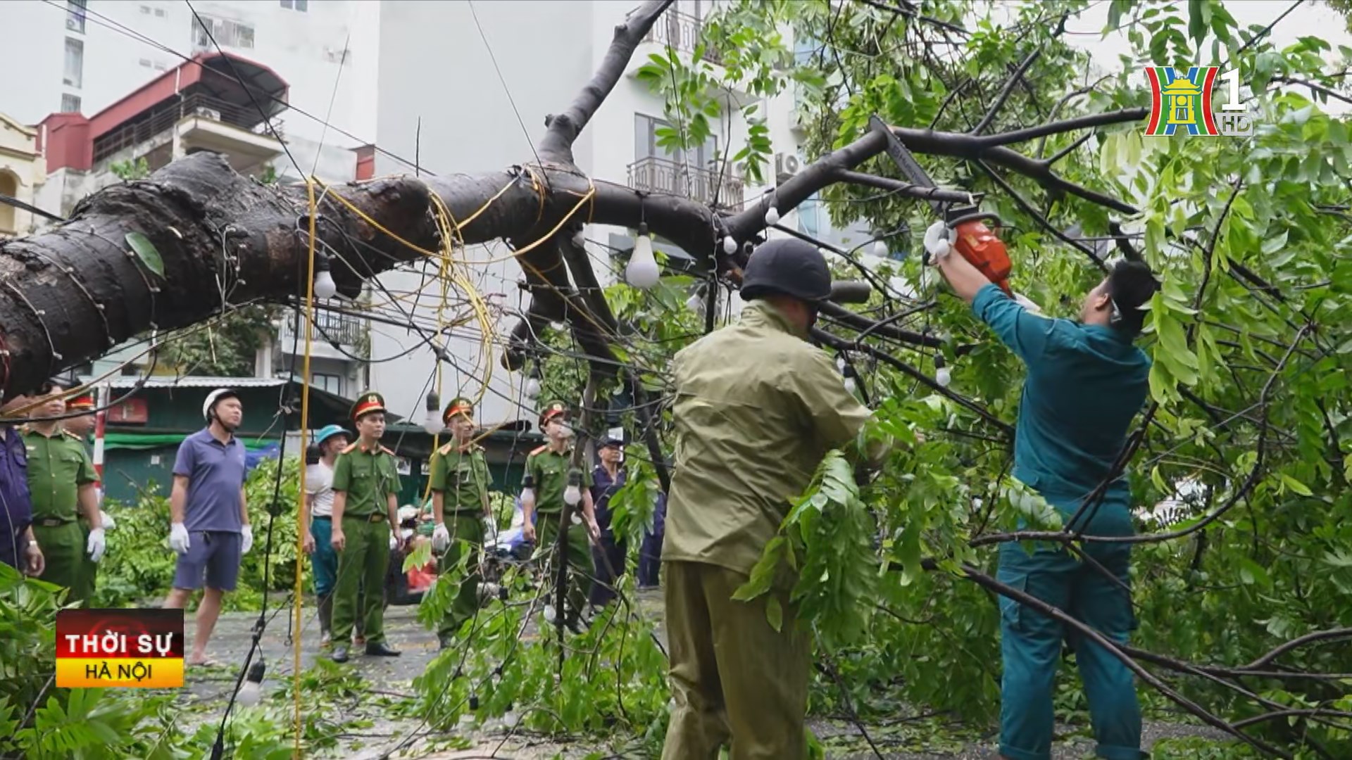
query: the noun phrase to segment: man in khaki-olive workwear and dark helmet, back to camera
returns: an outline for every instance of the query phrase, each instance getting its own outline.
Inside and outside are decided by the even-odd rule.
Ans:
[[[806,760],[811,637],[790,603],[792,572],[750,602],[733,594],[779,533],[790,500],[827,450],[856,440],[869,411],[807,342],[831,275],[796,239],[757,247],[737,325],[673,360],[676,462],[662,564],[675,710],[664,760]],[[871,445],[871,464],[886,444]],[[767,619],[769,599],[781,627]]]

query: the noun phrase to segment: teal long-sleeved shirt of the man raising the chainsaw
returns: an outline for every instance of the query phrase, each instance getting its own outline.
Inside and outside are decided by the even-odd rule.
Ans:
[[[1151,360],[1114,327],[1029,312],[994,284],[972,311],[1028,365],[1014,431],[1014,477],[1073,513],[1107,477],[1149,392]],[[1128,503],[1126,477],[1107,500]]]

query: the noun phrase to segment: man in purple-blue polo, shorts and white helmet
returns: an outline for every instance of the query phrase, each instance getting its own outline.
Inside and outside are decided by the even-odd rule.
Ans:
[[[201,414],[207,427],[178,445],[169,496],[169,545],[178,553],[178,568],[165,607],[181,610],[204,581],[207,587],[197,606],[189,665],[211,664],[207,641],[220,617],[220,599],[235,590],[239,559],[253,545],[245,503],[245,445],[234,435],[243,404],[233,388],[218,388],[207,396]]]

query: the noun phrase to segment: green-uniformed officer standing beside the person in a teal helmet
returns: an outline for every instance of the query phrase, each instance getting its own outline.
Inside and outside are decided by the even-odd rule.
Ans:
[[[397,544],[399,471],[395,453],[380,445],[385,434],[385,398],[366,391],[352,406],[357,441],[334,462],[333,537],[338,552],[338,583],[334,588],[333,660],[347,661],[347,646],[357,615],[362,615],[366,655],[395,657],[385,644],[385,604],[381,588],[389,567],[389,550]],[[357,598],[365,586],[362,610]]]

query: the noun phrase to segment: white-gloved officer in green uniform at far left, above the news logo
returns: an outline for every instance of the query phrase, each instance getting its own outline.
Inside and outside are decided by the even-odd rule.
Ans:
[[[61,429],[66,402],[61,385],[49,383],[39,414],[23,431],[28,457],[28,491],[32,494],[32,531],[47,559],[42,580],[70,590],[68,599],[88,604],[92,573],[88,561],[97,563],[107,544],[95,484],[93,462],[78,437]],[[89,525],[88,534],[80,517]]]

